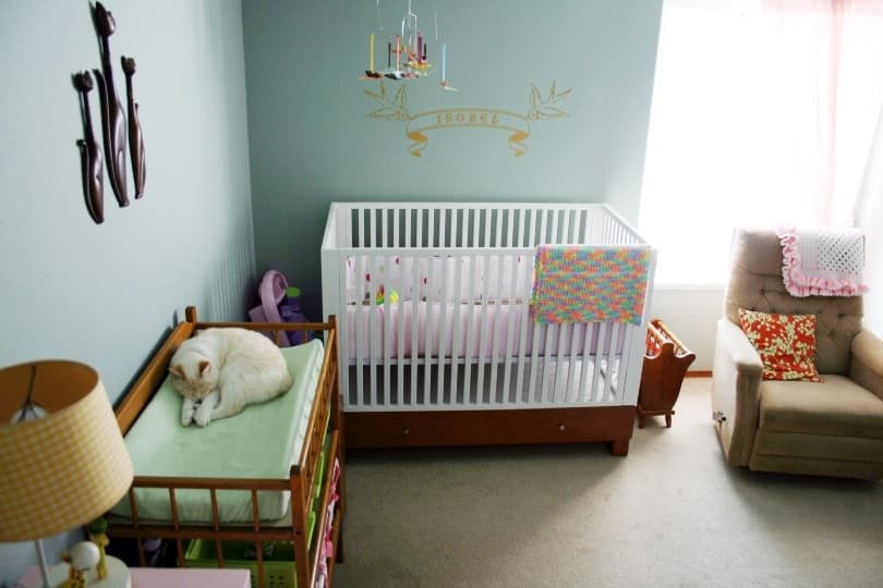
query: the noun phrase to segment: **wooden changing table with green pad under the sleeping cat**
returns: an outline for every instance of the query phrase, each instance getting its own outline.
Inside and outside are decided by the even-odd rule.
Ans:
[[[117,409],[135,477],[108,515],[108,536],[136,539],[141,565],[144,541],[162,538],[174,541],[181,566],[247,567],[252,585],[261,587],[329,586],[344,511],[335,318],[198,322],[193,307],[185,318]],[[294,378],[282,396],[204,429],[182,427],[180,397],[165,383],[169,360],[183,341],[209,327],[276,336],[323,331],[325,341],[282,350]]]

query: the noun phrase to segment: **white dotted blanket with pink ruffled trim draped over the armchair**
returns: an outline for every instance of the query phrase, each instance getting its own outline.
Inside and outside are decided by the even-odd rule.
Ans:
[[[857,229],[776,231],[782,242],[782,277],[793,296],[858,296],[862,282],[864,235]]]

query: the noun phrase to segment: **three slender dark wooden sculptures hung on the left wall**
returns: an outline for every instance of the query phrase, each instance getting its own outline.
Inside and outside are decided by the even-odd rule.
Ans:
[[[125,174],[126,126],[129,131],[129,150],[132,159],[132,174],[135,186],[135,198],[144,195],[146,180],[146,166],[144,156],[144,138],[138,120],[138,105],[135,103],[132,91],[132,76],[135,74],[135,60],[121,58],[123,73],[125,74],[126,111],[123,109],[117,87],[113,83],[113,68],[110,57],[110,36],[117,30],[113,15],[101,4],[96,2],[92,7],[92,19],[95,33],[98,37],[98,48],[101,58],[101,69],[93,69],[92,75],[98,86],[98,98],[101,112],[101,137],[104,139],[105,159],[107,160],[107,176],[113,195],[120,207],[129,206]],[[73,83],[81,102],[84,138],[77,140],[80,147],[81,171],[83,175],[83,193],[86,208],[96,223],[104,222],[104,168],[101,149],[95,139],[92,128],[92,114],[89,111],[88,94],[94,84],[88,72],[74,74]]]

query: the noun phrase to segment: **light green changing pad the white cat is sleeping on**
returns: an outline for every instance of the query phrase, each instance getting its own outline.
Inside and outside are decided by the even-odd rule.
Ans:
[[[294,380],[291,389],[204,428],[181,425],[181,396],[165,381],[125,436],[135,475],[288,479],[306,434],[324,346],[312,340],[281,351]],[[213,520],[208,490],[180,490],[176,498],[182,523]],[[140,518],[171,519],[167,489],[138,488],[135,500]],[[217,501],[221,523],[253,520],[250,492],[219,490]],[[288,511],[289,492],[261,491],[257,502],[262,520],[278,519]],[[111,512],[129,516],[129,498]]]

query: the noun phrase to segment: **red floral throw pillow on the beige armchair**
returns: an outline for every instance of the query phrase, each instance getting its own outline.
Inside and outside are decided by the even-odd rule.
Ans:
[[[821,382],[815,369],[815,316],[739,308],[739,324],[763,362],[764,380]]]

